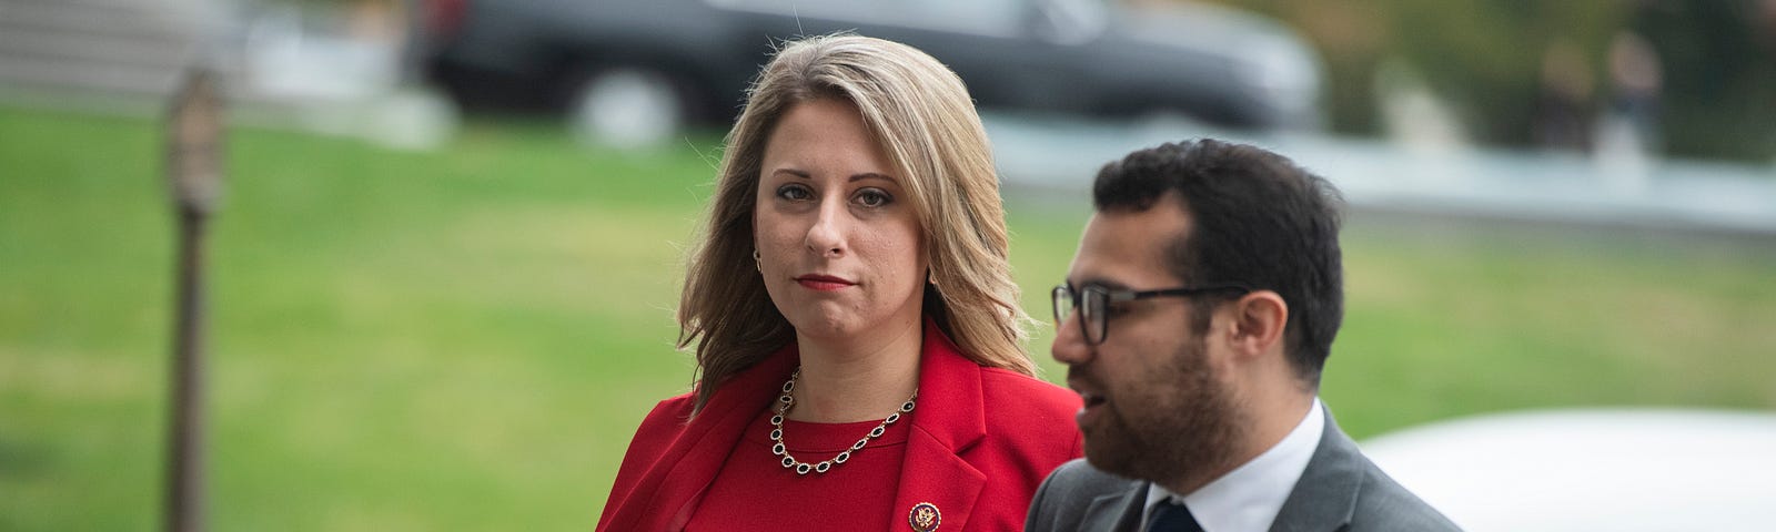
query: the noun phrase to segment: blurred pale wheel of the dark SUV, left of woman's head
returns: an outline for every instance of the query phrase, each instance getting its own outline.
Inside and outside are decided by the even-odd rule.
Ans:
[[[678,133],[691,110],[671,76],[611,67],[574,90],[568,126],[583,142],[623,149],[659,145]]]

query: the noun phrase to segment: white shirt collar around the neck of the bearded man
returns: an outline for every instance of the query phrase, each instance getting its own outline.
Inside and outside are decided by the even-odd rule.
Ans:
[[[1140,521],[1146,523],[1160,502],[1181,498],[1204,532],[1270,530],[1282,502],[1307,470],[1307,461],[1314,458],[1325,422],[1320,397],[1314,397],[1312,408],[1282,442],[1197,491],[1179,497],[1149,482]]]

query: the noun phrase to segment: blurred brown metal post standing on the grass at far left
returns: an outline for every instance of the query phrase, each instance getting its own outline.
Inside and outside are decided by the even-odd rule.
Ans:
[[[167,179],[179,223],[165,530],[204,530],[204,232],[222,193],[222,94],[194,69],[167,121]]]

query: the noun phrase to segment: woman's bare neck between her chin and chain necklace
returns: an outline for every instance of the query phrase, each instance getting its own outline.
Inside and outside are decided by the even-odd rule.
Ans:
[[[789,419],[801,422],[861,422],[888,417],[918,388],[924,321],[844,340],[797,335],[801,378]]]

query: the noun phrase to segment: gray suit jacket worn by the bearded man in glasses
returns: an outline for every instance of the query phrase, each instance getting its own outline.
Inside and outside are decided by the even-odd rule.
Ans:
[[[1325,417],[1320,447],[1272,532],[1460,530],[1364,458],[1330,411]],[[1069,461],[1037,488],[1025,530],[1140,530],[1149,484],[1099,472],[1085,459]]]

